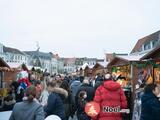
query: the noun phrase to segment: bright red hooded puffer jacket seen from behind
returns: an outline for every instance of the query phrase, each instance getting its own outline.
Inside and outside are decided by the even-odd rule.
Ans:
[[[97,120],[122,120],[121,113],[117,109],[127,107],[126,96],[120,84],[107,80],[97,88],[94,101],[99,103],[101,111]]]

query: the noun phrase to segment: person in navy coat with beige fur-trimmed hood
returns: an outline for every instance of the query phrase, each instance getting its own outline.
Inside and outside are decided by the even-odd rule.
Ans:
[[[57,87],[57,82],[55,80],[49,82],[47,86],[50,94],[47,105],[44,107],[44,111],[46,112],[47,116],[57,115],[62,120],[65,120],[65,108],[61,97],[68,97],[67,91]]]

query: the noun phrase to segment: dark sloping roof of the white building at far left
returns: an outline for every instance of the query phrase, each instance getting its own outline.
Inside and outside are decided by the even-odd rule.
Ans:
[[[11,48],[11,47],[5,47],[3,46],[3,52],[6,53],[14,53],[14,54],[21,54],[24,55],[24,53],[16,48]]]

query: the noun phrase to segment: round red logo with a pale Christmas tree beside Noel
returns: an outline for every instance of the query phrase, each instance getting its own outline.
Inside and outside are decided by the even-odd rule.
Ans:
[[[90,117],[95,117],[100,112],[100,106],[96,102],[89,102],[85,106],[85,112]]]

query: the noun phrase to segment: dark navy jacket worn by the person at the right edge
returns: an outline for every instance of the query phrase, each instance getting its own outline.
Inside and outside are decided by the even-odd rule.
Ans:
[[[140,120],[160,120],[160,101],[152,92],[142,96]]]

